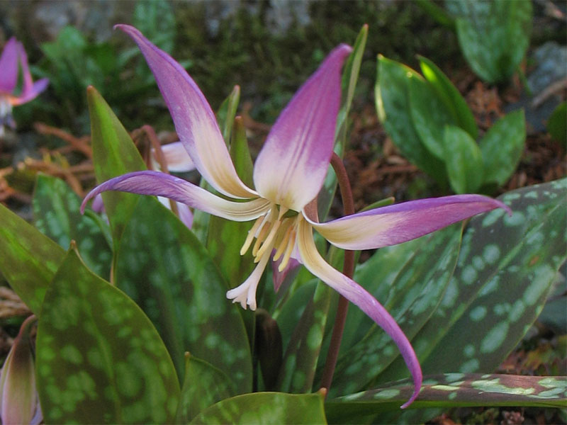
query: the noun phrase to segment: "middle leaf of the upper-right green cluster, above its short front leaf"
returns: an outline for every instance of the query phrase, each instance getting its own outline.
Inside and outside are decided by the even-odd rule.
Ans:
[[[455,123],[451,111],[439,98],[433,86],[420,79],[409,79],[408,96],[415,132],[429,152],[437,159],[444,161],[443,130],[445,125]]]

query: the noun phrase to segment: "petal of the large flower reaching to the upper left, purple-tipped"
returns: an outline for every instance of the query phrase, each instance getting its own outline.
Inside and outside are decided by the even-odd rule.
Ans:
[[[172,114],[177,134],[201,175],[220,193],[232,198],[254,198],[238,177],[220,134],[215,114],[189,74],[166,52],[159,50],[140,31],[117,25],[136,42]]]

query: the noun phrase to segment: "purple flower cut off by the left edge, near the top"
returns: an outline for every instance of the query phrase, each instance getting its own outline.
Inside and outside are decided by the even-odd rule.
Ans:
[[[19,94],[16,94],[19,67],[22,69],[23,85]],[[12,37],[0,56],[0,136],[4,132],[4,125],[14,128],[16,123],[12,117],[12,107],[22,105],[33,100],[45,90],[49,84],[46,78],[33,82],[28,66],[28,55],[23,50],[21,42]]]

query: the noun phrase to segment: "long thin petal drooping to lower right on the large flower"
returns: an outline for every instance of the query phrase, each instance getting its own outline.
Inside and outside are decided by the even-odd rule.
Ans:
[[[379,327],[384,329],[386,334],[388,334],[398,346],[405,364],[408,365],[410,369],[414,384],[412,397],[402,406],[402,408],[408,407],[415,397],[419,395],[422,383],[422,372],[410,341],[405,336],[402,329],[400,329],[390,313],[376,301],[376,298],[354,280],[344,276],[344,274],[335,270],[335,268],[332,268],[332,266],[320,256],[315,242],[313,242],[313,230],[311,225],[305,220],[299,222],[297,244],[301,254],[301,260],[308,271],[327,283],[327,285],[347,298],[347,300],[354,305],[357,305],[360,310],[374,320]]]

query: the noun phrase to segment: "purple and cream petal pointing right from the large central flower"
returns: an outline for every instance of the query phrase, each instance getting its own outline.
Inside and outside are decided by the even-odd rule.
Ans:
[[[311,222],[325,239],[342,249],[374,249],[416,239],[495,208],[510,208],[481,195],[427,198],[359,212],[326,223]]]

